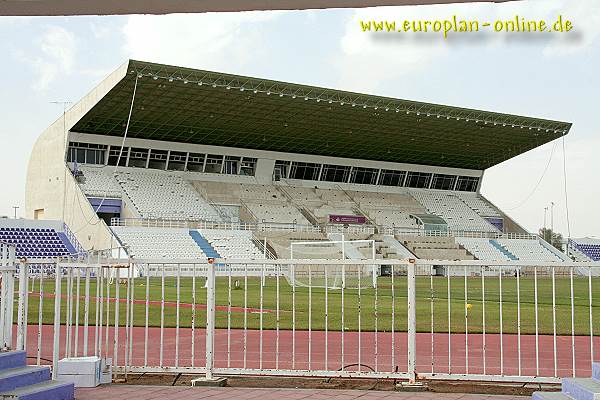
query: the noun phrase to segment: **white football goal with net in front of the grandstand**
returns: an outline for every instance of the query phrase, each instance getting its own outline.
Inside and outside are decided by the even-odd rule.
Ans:
[[[375,259],[373,240],[292,242],[290,255],[294,260],[315,260],[314,264],[289,266],[288,281],[296,287],[369,288],[378,276],[378,266],[364,261],[352,263],[352,260]]]

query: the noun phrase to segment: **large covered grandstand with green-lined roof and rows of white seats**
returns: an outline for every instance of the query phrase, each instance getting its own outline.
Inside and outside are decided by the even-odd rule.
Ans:
[[[343,233],[378,258],[561,262],[480,188],[569,129],[129,61],[40,136],[26,212],[138,258],[288,258]]]

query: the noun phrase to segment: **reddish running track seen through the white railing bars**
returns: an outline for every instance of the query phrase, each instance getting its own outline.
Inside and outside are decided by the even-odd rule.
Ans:
[[[41,357],[52,359],[52,343],[54,328],[51,325],[42,327]],[[73,342],[75,341],[75,329],[73,328]],[[95,328],[89,328],[88,353],[94,352]],[[66,327],[61,327],[60,356],[65,355],[65,333]],[[117,364],[124,364],[125,356],[125,329],[119,328],[119,346]],[[105,345],[106,330],[102,331],[102,352],[106,352]],[[108,357],[113,357],[113,334],[114,329],[109,329],[109,351]],[[38,326],[29,325],[27,332],[27,351],[30,357],[37,355]],[[176,329],[165,328],[163,332],[163,362],[162,366],[192,366],[190,328],[179,330],[179,358],[176,362]],[[83,354],[83,327],[79,327],[78,355]],[[133,329],[133,366],[144,365],[145,332],[143,327]],[[160,328],[148,329],[148,366],[160,365]],[[262,332],[262,368],[264,369],[311,369],[311,370],[338,370],[342,367],[342,334],[341,332],[296,331],[295,346],[293,346],[292,331],[280,331],[279,340],[274,330]],[[16,336],[15,336],[16,337]],[[359,362],[359,337],[360,337],[360,363],[382,372],[393,372],[398,367],[399,372],[407,371],[407,334],[405,332],[345,332],[343,335],[344,359],[343,365]],[[392,337],[394,338],[394,360],[392,364]],[[232,329],[229,335],[227,329],[217,329],[215,333],[215,367],[224,368],[260,368],[260,340],[261,332],[248,330],[246,332],[246,361],[244,364],[244,330]],[[327,338],[327,366],[325,366],[325,339]],[[375,339],[377,339],[377,356],[375,355]],[[195,330],[195,349],[193,366],[204,366],[205,355],[205,331],[203,328]],[[500,335],[487,334],[485,336],[485,371],[483,367],[483,335],[468,335],[468,372],[471,374],[501,374],[519,375],[518,337],[517,335],[503,335],[502,348],[500,351]],[[277,342],[279,351],[276,352]],[[417,371],[428,373],[433,370],[436,373],[449,372],[448,357],[448,334],[436,333],[417,334]],[[524,376],[554,376],[554,341],[551,335],[539,336],[539,374],[536,374],[536,349],[535,336],[521,336],[521,375]],[[310,344],[310,352],[309,352]],[[558,336],[557,347],[557,376],[571,376],[573,373],[571,336]],[[600,337],[594,338],[594,347],[600,349]],[[74,346],[72,347],[74,349]],[[466,371],[465,335],[452,334],[450,348],[450,372],[462,374]],[[295,350],[295,351],[294,351]],[[72,352],[73,355],[73,352]],[[600,360],[600,354],[596,352],[595,361]],[[295,360],[294,360],[295,359]],[[32,358],[33,362],[34,359]],[[309,364],[310,363],[310,364]],[[501,371],[501,365],[502,371]],[[357,367],[348,368],[357,370]],[[589,376],[591,374],[590,360],[590,338],[588,336],[575,337],[575,371],[577,376]]]

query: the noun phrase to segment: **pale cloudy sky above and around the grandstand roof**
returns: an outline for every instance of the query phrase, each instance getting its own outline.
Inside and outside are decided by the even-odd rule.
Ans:
[[[438,34],[365,34],[359,24],[452,15],[494,21],[516,14],[548,21],[562,14],[574,29],[443,40]],[[598,0],[0,18],[0,54],[0,215],[12,215],[13,205],[24,209],[30,150],[62,112],[51,102],[77,102],[134,58],[572,122],[565,139],[571,236],[600,236]],[[543,225],[544,207],[553,201],[555,227],[567,236],[564,188],[559,140],[487,170],[482,193],[530,231]]]

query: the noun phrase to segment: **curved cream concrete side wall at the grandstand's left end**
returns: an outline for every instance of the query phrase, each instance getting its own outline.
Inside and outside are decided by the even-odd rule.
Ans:
[[[25,215],[33,219],[43,210],[43,219],[64,221],[86,249],[106,249],[112,235],[95,214],[65,163],[66,132],[121,80],[127,64],[98,86],[50,125],[37,139],[27,169]]]

